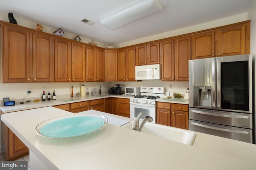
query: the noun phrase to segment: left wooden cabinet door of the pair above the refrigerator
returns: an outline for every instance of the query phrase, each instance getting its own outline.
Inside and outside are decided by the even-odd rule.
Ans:
[[[215,32],[205,32],[192,36],[192,59],[215,56]]]

